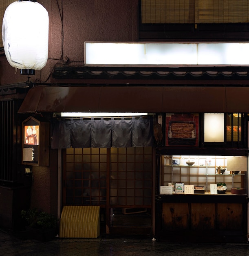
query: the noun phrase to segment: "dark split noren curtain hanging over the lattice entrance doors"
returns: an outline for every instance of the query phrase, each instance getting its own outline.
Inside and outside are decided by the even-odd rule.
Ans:
[[[153,118],[57,120],[51,148],[153,146]]]

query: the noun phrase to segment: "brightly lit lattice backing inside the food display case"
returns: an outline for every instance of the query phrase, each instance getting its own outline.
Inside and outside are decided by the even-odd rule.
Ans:
[[[196,159],[190,159],[190,162],[196,162],[196,164],[189,166],[185,164],[187,161],[182,156],[162,156],[163,166],[161,173],[161,185],[167,186],[168,183],[175,184],[176,182],[183,182],[185,185],[205,186],[205,191],[210,191],[210,184],[217,184],[223,182],[227,185],[227,192],[231,191],[231,188],[243,187],[245,180],[245,173],[240,172],[238,174],[230,173],[227,170],[227,159],[225,156],[213,156],[209,159],[209,162],[213,164],[203,165],[206,161],[206,157],[197,157]],[[167,159],[167,162],[165,161]],[[173,160],[178,164],[172,164]],[[207,162],[207,161],[206,161]],[[218,174],[216,171],[217,166],[226,168],[225,173]]]

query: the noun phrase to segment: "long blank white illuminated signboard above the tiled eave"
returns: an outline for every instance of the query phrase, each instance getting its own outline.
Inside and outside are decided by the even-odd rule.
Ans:
[[[249,66],[249,43],[85,42],[85,65]]]

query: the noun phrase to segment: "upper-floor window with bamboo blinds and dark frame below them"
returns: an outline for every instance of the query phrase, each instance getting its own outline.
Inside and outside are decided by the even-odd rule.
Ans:
[[[249,0],[140,0],[140,40],[247,40]]]

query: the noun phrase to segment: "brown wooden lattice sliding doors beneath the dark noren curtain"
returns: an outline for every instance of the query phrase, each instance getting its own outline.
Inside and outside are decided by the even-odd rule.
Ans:
[[[101,233],[150,234],[152,148],[63,150],[64,205],[99,205]]]

